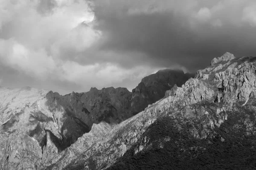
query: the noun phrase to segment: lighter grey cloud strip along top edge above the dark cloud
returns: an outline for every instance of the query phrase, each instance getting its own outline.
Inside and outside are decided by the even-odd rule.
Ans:
[[[244,20],[254,23],[254,0],[96,0],[95,2],[98,6],[119,11],[116,12],[119,16],[173,12],[186,16],[192,23],[209,22],[216,27],[221,27],[225,23],[241,26]],[[242,17],[243,15],[245,16]]]

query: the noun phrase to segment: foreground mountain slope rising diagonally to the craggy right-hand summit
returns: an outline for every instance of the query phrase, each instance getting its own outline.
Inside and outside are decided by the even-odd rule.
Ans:
[[[93,125],[44,169],[253,170],[255,92],[256,57],[225,53],[135,116]]]

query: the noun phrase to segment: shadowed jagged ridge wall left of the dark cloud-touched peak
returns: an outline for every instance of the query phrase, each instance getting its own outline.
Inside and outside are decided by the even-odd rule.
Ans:
[[[91,88],[86,93],[61,96],[50,91],[46,95],[50,111],[61,133],[61,150],[73,144],[93,123],[101,121],[119,123],[129,116],[130,94],[126,88]],[[59,114],[61,108],[61,114]]]

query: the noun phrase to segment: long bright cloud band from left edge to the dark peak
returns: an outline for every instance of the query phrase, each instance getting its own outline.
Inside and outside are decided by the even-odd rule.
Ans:
[[[140,79],[152,69],[146,66],[125,69],[112,63],[81,65],[73,61],[53,59],[47,56],[44,49],[28,50],[13,39],[0,40],[0,59],[3,64],[37,79],[59,79],[81,87],[97,85],[103,88],[127,78]],[[137,73],[140,75],[136,77]]]

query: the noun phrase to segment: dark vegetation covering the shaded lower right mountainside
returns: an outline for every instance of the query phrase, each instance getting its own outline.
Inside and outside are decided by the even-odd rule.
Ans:
[[[255,108],[235,105],[226,111],[228,119],[214,129],[207,125],[206,116],[196,113],[182,119],[181,115],[174,119],[173,114],[160,118],[142,137],[149,141],[134,145],[108,170],[255,170]],[[141,144],[145,148],[134,154]]]

